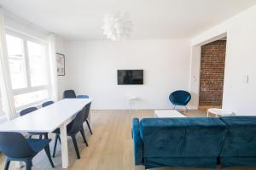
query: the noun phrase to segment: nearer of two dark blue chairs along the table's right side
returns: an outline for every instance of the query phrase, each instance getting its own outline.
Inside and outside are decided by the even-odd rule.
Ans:
[[[82,132],[81,127],[83,126],[84,122],[84,112],[85,112],[85,106],[82,111],[80,111],[74,118],[72,122],[67,124],[67,136],[70,136],[73,140],[73,145],[76,150],[76,154],[78,159],[80,159],[80,154],[79,154],[79,147],[77,144],[77,139],[76,139],[76,134],[81,133],[82,137],[84,139],[84,143],[88,146],[88,143],[85,139],[84,133]],[[57,146],[58,139],[60,139],[60,128],[57,128],[53,133],[55,133],[55,146],[54,146],[54,151],[53,151],[53,157],[55,157],[55,150]]]

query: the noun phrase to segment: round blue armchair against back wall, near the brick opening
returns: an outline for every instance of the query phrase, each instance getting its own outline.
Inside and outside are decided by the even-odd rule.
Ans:
[[[177,90],[175,92],[172,92],[169,96],[170,101],[172,102],[172,105],[174,105],[174,109],[176,105],[183,105],[187,109],[187,106],[190,99],[191,94],[189,92],[186,92],[184,90]]]

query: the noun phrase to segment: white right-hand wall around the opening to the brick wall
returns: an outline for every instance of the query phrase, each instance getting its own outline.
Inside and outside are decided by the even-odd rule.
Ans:
[[[237,115],[256,115],[256,6],[193,38],[192,45],[227,34],[224,109]],[[192,59],[193,60],[193,59]],[[194,59],[196,62],[197,59]],[[247,83],[249,75],[249,83]]]

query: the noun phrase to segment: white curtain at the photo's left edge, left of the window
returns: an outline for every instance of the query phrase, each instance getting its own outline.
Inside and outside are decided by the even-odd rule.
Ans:
[[[0,9],[0,88],[3,112],[7,119],[14,119],[17,115],[9,77],[3,9]]]

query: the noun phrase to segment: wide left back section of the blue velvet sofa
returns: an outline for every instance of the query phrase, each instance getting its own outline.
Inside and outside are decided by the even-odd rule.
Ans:
[[[144,157],[218,156],[226,126],[218,118],[145,118],[140,122]]]

